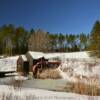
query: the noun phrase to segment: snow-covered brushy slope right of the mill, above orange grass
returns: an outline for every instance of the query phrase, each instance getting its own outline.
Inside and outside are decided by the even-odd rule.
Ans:
[[[63,79],[68,82],[84,82],[100,85],[100,63],[95,61],[66,61],[58,67]]]

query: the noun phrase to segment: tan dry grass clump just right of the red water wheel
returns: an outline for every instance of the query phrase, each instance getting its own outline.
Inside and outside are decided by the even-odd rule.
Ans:
[[[46,69],[38,75],[40,79],[60,79],[61,76],[57,69]]]

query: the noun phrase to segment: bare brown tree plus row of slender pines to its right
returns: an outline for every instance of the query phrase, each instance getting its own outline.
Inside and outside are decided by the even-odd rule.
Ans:
[[[43,52],[84,51],[88,47],[89,34],[49,33],[39,29],[31,33],[28,48]]]

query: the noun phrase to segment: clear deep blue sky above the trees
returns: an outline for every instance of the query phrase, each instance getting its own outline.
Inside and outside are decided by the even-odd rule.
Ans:
[[[89,33],[100,20],[100,0],[0,0],[0,26],[51,33]]]

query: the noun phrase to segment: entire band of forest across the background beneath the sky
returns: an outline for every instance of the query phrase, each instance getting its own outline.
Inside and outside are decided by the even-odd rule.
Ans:
[[[27,51],[76,52],[100,49],[100,22],[96,21],[90,33],[50,33],[42,29],[27,31],[12,24],[0,27],[0,54],[25,54]]]

